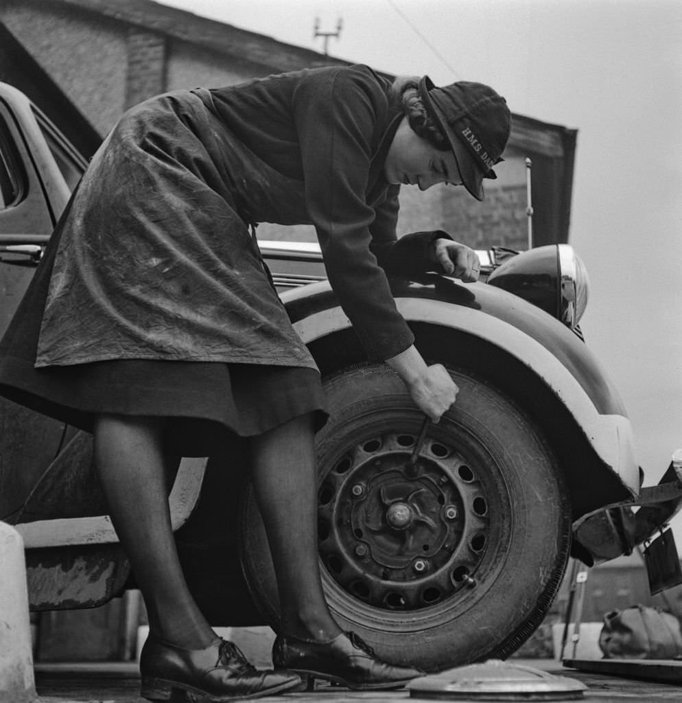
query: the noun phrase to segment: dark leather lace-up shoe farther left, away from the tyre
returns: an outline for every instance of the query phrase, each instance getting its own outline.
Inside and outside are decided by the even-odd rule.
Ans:
[[[291,671],[258,671],[239,647],[218,639],[204,650],[184,650],[150,635],[140,654],[140,695],[150,701],[220,703],[301,688]]]

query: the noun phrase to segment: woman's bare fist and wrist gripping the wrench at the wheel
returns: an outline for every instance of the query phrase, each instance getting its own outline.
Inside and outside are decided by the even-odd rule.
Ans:
[[[445,366],[440,363],[427,366],[414,346],[386,359],[386,363],[405,382],[417,407],[434,423],[438,423],[459,392]]]

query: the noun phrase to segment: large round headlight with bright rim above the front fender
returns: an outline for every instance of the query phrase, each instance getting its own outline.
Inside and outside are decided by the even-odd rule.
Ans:
[[[568,244],[521,252],[494,269],[487,282],[537,305],[571,329],[587,307],[587,271]]]

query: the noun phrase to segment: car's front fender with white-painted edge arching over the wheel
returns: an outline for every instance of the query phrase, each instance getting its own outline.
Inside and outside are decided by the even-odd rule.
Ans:
[[[575,517],[638,494],[633,432],[622,400],[572,330],[525,300],[484,283],[464,285],[426,275],[413,281],[392,279],[391,287],[398,310],[413,327],[437,327],[441,337],[452,330],[479,346],[492,347],[502,366],[509,364],[525,374],[524,385],[533,377],[551,395],[553,405],[544,401],[535,412],[532,399],[521,404],[556,439],[552,444],[558,444],[554,449],[570,484]],[[351,327],[327,282],[284,292],[282,301],[297,333],[312,349],[315,342]],[[461,356],[461,347],[442,349],[436,361],[457,363]],[[503,376],[499,368],[497,376]],[[561,426],[551,427],[552,418],[546,415],[560,413]],[[580,437],[582,446],[562,442],[562,435]]]

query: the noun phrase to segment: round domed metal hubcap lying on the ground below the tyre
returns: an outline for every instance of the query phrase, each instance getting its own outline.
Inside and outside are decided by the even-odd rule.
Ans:
[[[572,678],[499,659],[416,678],[407,688],[412,698],[480,701],[568,701],[586,690]]]

